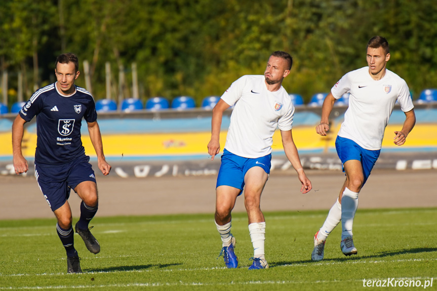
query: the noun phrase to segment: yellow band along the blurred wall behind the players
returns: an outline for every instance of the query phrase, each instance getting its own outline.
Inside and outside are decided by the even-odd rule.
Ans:
[[[340,125],[332,128],[327,137],[315,133],[314,127],[294,128],[293,139],[298,150],[327,150],[335,148],[335,138]],[[383,139],[383,148],[398,148],[393,144],[394,131],[402,129],[402,125],[394,124],[387,126]],[[436,147],[437,124],[418,124],[410,133],[405,144],[406,147]],[[1,133],[0,155],[12,155],[11,133]],[[120,134],[103,135],[103,149],[106,156],[132,155],[198,155],[208,156],[207,145],[210,141],[210,132],[201,133],[173,133],[173,134]],[[226,141],[226,132],[220,133],[220,145],[223,147]],[[85,152],[95,156],[95,151],[88,135],[82,137]],[[27,131],[23,137],[23,155],[34,157],[36,148],[36,134]],[[273,151],[282,151],[281,133],[277,130],[273,135]]]

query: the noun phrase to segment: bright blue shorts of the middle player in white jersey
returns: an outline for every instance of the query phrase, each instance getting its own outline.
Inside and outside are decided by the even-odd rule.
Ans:
[[[244,176],[253,167],[261,167],[265,173],[270,174],[271,154],[258,158],[246,158],[224,149],[221,156],[221,165],[217,177],[217,185],[231,186],[243,191]],[[240,194],[241,195],[241,192]]]

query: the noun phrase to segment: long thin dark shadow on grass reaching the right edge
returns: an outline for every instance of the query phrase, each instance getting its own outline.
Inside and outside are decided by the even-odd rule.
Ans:
[[[319,261],[319,262],[359,261],[359,260],[363,260],[363,259],[387,258],[387,257],[393,257],[393,256],[399,256],[399,255],[405,255],[405,254],[420,254],[420,253],[432,253],[432,252],[437,252],[437,247],[416,247],[416,248],[410,248],[410,249],[405,249],[405,250],[381,252],[379,254],[371,255],[371,256],[353,255],[350,257],[326,259],[326,260]],[[272,263],[269,262],[269,266],[276,267],[276,266],[300,265],[300,264],[319,263],[319,262],[314,262],[311,260],[288,261],[288,262],[283,261],[283,262],[272,262]]]

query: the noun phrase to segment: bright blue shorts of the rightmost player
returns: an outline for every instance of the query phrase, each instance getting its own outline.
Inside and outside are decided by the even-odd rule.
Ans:
[[[351,159],[356,159],[361,161],[361,165],[363,167],[364,174],[364,182],[363,185],[366,184],[367,179],[370,176],[370,172],[373,169],[373,166],[376,163],[376,160],[379,157],[379,153],[381,150],[368,150],[359,146],[356,142],[337,136],[335,140],[335,148],[337,150],[338,157],[343,164],[343,172],[344,172],[344,163]]]

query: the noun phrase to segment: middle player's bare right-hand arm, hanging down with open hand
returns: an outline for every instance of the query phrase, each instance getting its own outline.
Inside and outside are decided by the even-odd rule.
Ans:
[[[309,181],[308,177],[306,177],[306,174],[303,171],[302,163],[300,162],[299,153],[297,151],[296,145],[294,144],[291,130],[281,131],[281,138],[282,144],[284,146],[285,155],[291,162],[294,170],[296,170],[299,181],[302,184],[300,192],[302,192],[302,194],[308,193],[312,189],[311,181]]]

